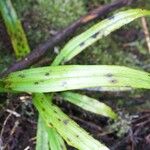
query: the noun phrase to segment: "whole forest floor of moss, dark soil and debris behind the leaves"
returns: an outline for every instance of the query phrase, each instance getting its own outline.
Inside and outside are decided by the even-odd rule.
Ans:
[[[62,5],[61,0],[57,0],[55,4],[48,0],[49,5],[47,5],[47,1],[42,4],[37,1],[12,0],[31,48],[35,48],[89,10],[111,2],[111,0],[74,0],[65,3],[63,0]],[[148,1],[139,1],[122,10],[135,7],[150,9]],[[146,18],[146,21],[150,31],[150,19]],[[88,27],[79,29],[77,34]],[[2,72],[15,61],[15,56],[1,17],[0,37],[0,72]],[[43,58],[43,62],[47,63],[47,60],[51,62],[56,56],[55,52],[64,44],[65,42],[51,49]],[[142,22],[138,19],[98,41],[68,64],[122,65],[150,72],[149,57]],[[79,92],[111,106],[120,114],[120,122],[112,123],[107,118],[85,112],[57,99],[57,96],[55,103],[93,137],[112,150],[150,150],[150,92],[148,90]],[[34,149],[37,117],[30,95],[0,94],[0,147],[3,145],[6,150]],[[73,148],[68,146],[68,149]]]

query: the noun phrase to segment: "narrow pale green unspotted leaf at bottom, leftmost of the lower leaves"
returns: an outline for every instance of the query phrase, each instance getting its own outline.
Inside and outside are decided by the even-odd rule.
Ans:
[[[36,135],[36,150],[49,150],[50,148],[48,142],[49,139],[45,127],[45,122],[43,122],[43,119],[39,117]]]

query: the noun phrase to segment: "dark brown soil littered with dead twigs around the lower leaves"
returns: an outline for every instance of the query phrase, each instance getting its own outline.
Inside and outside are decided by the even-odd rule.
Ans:
[[[105,94],[103,96],[106,98]],[[101,96],[100,99],[104,97]],[[0,113],[1,145],[5,150],[35,149],[37,113],[27,95],[7,98],[7,104]],[[117,99],[117,96],[113,97]],[[57,100],[56,104],[88,131],[94,138],[105,143],[111,150],[149,150],[150,149],[150,110],[132,113],[130,129],[122,137],[117,137],[116,131],[107,132],[109,121],[107,118],[85,112],[78,107]],[[139,105],[139,104],[138,104]],[[12,110],[15,113],[10,113]],[[73,148],[68,146],[68,150]]]

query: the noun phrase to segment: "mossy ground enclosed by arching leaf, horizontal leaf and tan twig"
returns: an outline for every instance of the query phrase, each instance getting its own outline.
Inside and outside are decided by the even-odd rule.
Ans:
[[[133,21],[97,41],[69,64],[122,65],[149,71],[150,60],[142,32],[140,20]]]

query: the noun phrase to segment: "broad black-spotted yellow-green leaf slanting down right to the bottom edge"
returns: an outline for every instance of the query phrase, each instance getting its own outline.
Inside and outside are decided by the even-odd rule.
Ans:
[[[44,94],[35,94],[33,103],[47,126],[54,127],[69,145],[80,150],[108,150],[106,146],[92,138],[57,106],[50,103]]]

